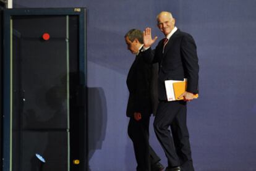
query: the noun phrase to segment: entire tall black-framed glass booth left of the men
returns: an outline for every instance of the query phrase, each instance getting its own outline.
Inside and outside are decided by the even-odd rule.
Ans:
[[[7,135],[4,136],[7,140],[4,144],[7,147],[4,148],[5,170],[10,163],[8,159],[11,159],[12,171],[65,171],[68,159],[70,170],[87,170],[84,161],[85,30],[83,26],[81,30],[79,23],[84,17],[81,20],[81,15],[77,15],[80,11],[5,10],[7,15],[12,14],[13,28],[12,53],[4,58],[7,71],[12,71],[4,73],[5,79],[10,77],[12,80],[12,91],[4,91],[7,92],[7,102],[12,102],[6,103],[4,108],[12,107],[10,119],[4,120],[4,135]],[[6,33],[8,38],[10,33]],[[49,33],[49,40],[43,40],[43,33]],[[9,41],[5,44],[8,49]],[[7,83],[5,90],[9,88],[9,82],[4,82]],[[4,113],[9,115],[8,110]],[[12,140],[8,137],[9,131]],[[11,141],[12,156],[9,157],[8,143]],[[43,156],[45,164],[36,158],[36,154]],[[74,159],[79,159],[80,164],[73,164]]]

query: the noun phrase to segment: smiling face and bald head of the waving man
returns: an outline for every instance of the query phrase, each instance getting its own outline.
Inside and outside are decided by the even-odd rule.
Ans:
[[[175,20],[168,14],[160,14],[158,16],[158,28],[167,36],[173,30]]]

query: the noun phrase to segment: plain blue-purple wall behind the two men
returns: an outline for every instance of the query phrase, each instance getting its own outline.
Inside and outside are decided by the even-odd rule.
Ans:
[[[90,169],[135,170],[127,136],[126,75],[134,56],[130,28],[153,28],[173,12],[194,36],[200,60],[200,98],[190,102],[188,125],[195,170],[256,170],[256,1],[14,0],[14,7],[87,7]],[[153,120],[153,118],[152,118]],[[151,127],[151,144],[166,164]]]

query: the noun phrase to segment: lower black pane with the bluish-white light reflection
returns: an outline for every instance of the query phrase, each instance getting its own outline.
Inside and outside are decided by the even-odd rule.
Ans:
[[[15,136],[14,137],[18,137]],[[25,131],[22,133],[21,147],[25,149],[19,156],[13,156],[12,170],[67,170],[67,133],[61,131]],[[19,141],[14,139],[13,141]],[[15,149],[17,151],[19,149]],[[40,154],[45,164],[36,158]],[[20,161],[20,164],[17,164]]]

